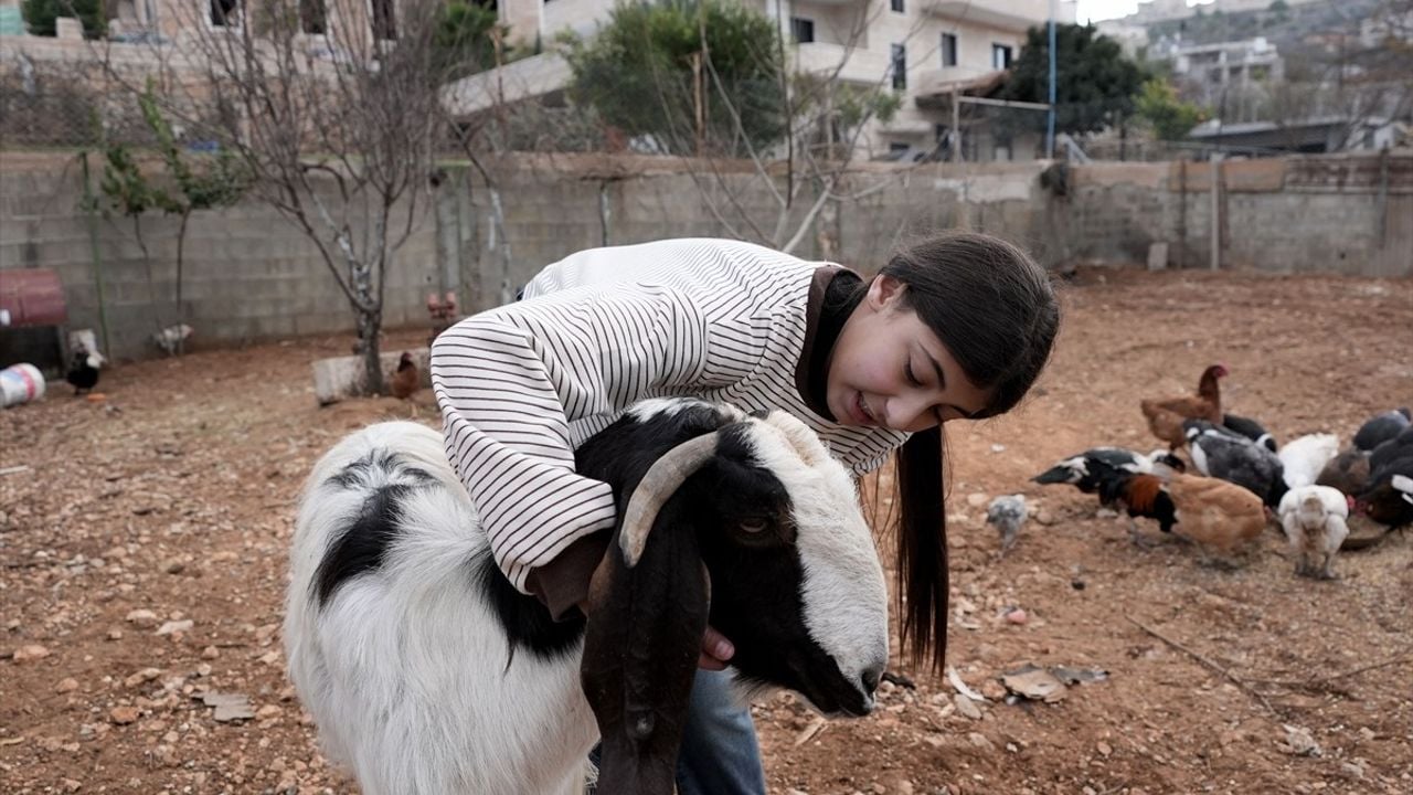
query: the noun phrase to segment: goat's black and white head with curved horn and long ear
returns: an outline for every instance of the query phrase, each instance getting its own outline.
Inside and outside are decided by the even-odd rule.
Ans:
[[[619,495],[593,576],[584,683],[610,792],[671,792],[708,624],[747,686],[866,714],[887,593],[848,472],[797,419],[699,400],[640,405],[579,448]]]

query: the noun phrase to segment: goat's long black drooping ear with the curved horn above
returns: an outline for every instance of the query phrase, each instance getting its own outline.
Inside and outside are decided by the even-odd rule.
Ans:
[[[589,586],[581,678],[603,737],[605,794],[674,791],[709,583],[691,518],[661,508],[715,450],[715,434],[698,437],[649,470]]]

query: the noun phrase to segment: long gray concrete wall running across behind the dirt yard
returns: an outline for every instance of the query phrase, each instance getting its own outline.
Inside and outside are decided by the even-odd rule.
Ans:
[[[90,160],[96,184],[99,158]],[[1043,168],[861,166],[834,191],[855,198],[825,205],[797,253],[872,272],[910,235],[966,225],[1026,245],[1047,265],[1142,263],[1153,242],[1170,245],[1174,267],[1208,265],[1210,164],[1075,167],[1063,197],[1041,187]],[[495,229],[486,182],[469,168],[448,167],[390,272],[387,327],[427,324],[428,293],[455,290],[468,311],[496,306],[503,280],[516,287],[584,248],[687,235],[759,239],[774,231],[780,214],[745,164],[694,175],[667,158],[526,156],[493,164],[492,173],[504,233]],[[99,219],[102,265],[95,269],[81,174],[72,154],[0,153],[0,269],[57,269],[71,325],[95,328],[100,273],[109,355],[153,355],[148,335],[177,320],[177,221],[144,216],[151,255],[144,259],[129,219]],[[1222,164],[1219,185],[1224,267],[1413,274],[1410,154],[1232,161]],[[790,228],[815,197],[808,188],[796,197]],[[509,269],[503,240],[510,243]],[[352,337],[352,311],[318,250],[256,201],[192,218],[184,283],[198,345]]]

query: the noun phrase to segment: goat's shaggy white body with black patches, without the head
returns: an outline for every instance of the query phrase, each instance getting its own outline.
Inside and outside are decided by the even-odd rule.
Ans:
[[[499,571],[441,434],[383,423],[325,454],[291,569],[290,676],[367,795],[579,789],[596,737],[582,639],[512,654],[487,600]]]

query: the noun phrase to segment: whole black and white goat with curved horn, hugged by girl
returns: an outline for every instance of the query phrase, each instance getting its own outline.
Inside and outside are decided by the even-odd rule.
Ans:
[[[335,446],[305,487],[284,638],[324,748],[363,792],[670,794],[708,621],[743,695],[866,714],[887,661],[883,570],[841,464],[801,422],[640,403],[586,440],[619,525],[588,618],[555,622],[492,560],[442,437]]]

